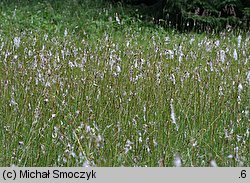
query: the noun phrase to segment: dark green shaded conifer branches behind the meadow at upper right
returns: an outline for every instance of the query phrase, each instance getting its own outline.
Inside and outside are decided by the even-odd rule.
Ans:
[[[117,0],[115,0],[117,1]],[[126,3],[150,6],[157,19],[178,29],[208,30],[211,28],[243,27],[250,22],[249,0],[124,0]],[[152,8],[157,5],[157,8]],[[160,13],[159,13],[160,12]],[[150,14],[155,15],[155,14]]]

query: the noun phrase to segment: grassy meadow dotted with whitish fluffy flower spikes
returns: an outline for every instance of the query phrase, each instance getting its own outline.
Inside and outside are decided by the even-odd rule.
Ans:
[[[250,33],[138,17],[0,2],[0,166],[250,166]]]

